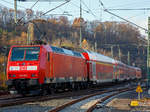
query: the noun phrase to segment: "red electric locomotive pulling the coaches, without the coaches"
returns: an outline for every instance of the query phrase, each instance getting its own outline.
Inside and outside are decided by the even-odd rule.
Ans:
[[[21,94],[85,85],[86,60],[78,52],[48,45],[12,46],[7,78],[8,88]]]

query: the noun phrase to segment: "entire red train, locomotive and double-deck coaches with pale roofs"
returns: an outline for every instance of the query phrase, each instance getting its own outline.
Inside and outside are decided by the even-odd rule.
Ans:
[[[102,54],[49,45],[12,46],[7,63],[8,88],[21,94],[140,78],[140,68]]]

